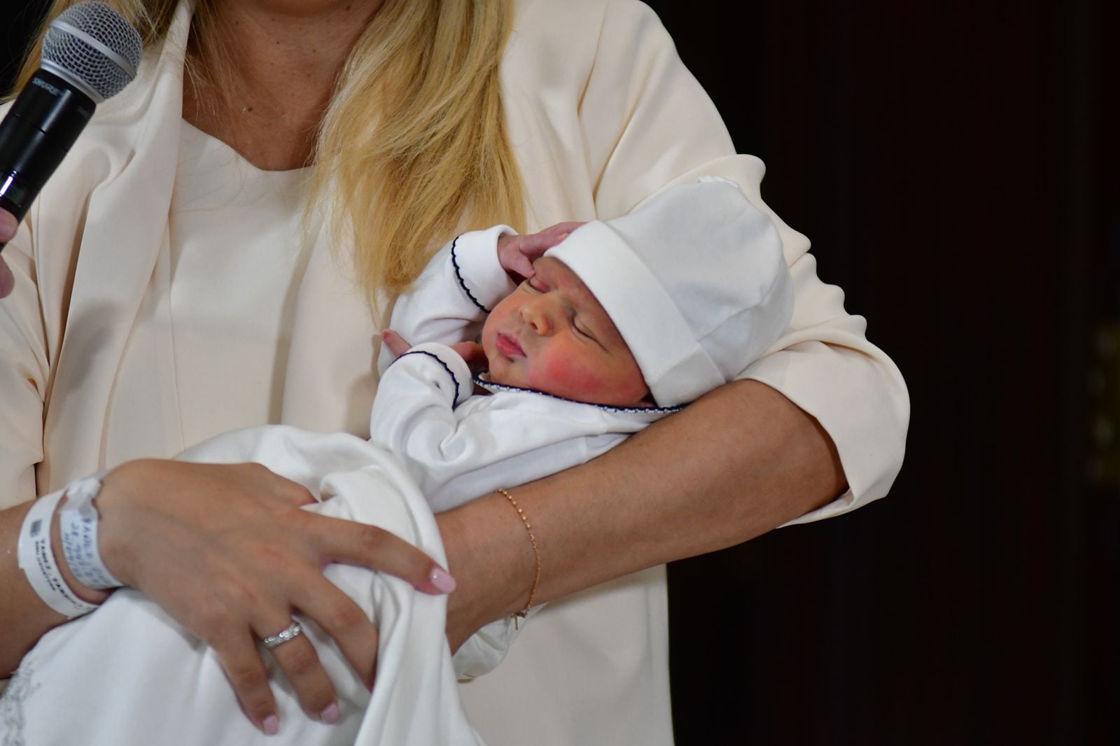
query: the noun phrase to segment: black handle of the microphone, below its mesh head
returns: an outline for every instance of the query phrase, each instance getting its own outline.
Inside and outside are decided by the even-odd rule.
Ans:
[[[35,73],[0,122],[0,208],[24,220],[96,108],[64,78]]]

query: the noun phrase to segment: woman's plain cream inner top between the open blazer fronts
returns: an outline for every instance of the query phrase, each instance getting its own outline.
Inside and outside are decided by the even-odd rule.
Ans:
[[[308,246],[307,169],[264,171],[183,122],[171,197],[170,304],[184,445],[277,422]],[[162,290],[162,292],[161,292]],[[230,407],[233,400],[237,407]]]

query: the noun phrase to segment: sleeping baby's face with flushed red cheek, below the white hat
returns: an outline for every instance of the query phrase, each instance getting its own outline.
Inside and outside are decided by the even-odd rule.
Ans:
[[[483,327],[495,383],[612,407],[642,407],[642,371],[614,321],[563,262],[542,257],[536,276],[500,302]]]

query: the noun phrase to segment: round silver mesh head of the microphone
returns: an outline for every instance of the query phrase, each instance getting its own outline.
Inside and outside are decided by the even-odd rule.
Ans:
[[[44,66],[95,94],[99,103],[132,82],[142,53],[139,31],[100,0],[64,10],[43,40]]]

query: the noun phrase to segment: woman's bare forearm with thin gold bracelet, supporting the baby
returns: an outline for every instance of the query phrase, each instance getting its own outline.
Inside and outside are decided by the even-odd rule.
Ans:
[[[832,440],[788,399],[738,381],[582,466],[513,489],[532,522],[545,602],[654,565],[740,543],[846,489]],[[439,516],[452,644],[524,606],[532,545],[487,495]],[[477,584],[477,585],[476,585]]]

